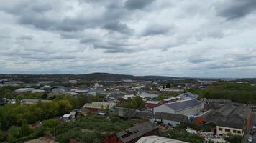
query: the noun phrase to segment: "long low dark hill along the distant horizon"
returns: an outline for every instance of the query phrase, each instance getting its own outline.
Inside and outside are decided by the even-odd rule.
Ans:
[[[91,73],[91,74],[0,74],[0,79],[83,79],[83,80],[103,80],[103,81],[120,81],[120,80],[173,80],[185,79],[179,77],[164,77],[164,76],[133,76],[126,74],[109,74],[109,73]]]

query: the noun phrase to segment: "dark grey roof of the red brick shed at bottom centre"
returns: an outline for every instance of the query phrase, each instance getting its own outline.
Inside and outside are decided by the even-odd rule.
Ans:
[[[145,122],[137,124],[134,127],[127,129],[126,131],[118,132],[116,136],[124,143],[132,141],[133,139],[142,137],[148,132],[152,132],[157,129],[157,126],[152,122]]]

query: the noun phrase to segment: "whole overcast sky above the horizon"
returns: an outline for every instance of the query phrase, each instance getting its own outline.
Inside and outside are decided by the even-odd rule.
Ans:
[[[91,72],[256,77],[256,1],[0,1],[0,74]]]

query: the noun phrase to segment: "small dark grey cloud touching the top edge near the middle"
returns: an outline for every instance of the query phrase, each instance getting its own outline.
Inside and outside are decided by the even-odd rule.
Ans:
[[[145,6],[152,3],[154,0],[127,0],[124,5],[127,9],[143,9]]]

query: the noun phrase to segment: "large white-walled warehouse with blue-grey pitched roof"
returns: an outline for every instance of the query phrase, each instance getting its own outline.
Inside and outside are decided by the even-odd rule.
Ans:
[[[154,108],[154,112],[183,114],[187,116],[201,114],[201,109],[201,102],[196,99],[188,99],[160,105]]]

